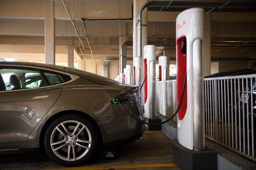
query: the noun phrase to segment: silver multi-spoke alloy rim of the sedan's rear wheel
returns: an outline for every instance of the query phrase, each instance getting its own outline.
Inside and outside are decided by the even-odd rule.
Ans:
[[[51,133],[51,150],[64,161],[77,161],[83,158],[90,150],[91,144],[89,129],[76,120],[60,123]]]

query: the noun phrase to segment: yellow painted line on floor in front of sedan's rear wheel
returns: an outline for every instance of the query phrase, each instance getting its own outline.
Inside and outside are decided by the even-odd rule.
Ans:
[[[128,168],[153,168],[153,167],[173,167],[175,164],[140,164],[140,165],[120,165],[120,166],[91,166],[91,167],[76,167],[63,169],[49,170],[103,170],[103,169],[128,169]]]

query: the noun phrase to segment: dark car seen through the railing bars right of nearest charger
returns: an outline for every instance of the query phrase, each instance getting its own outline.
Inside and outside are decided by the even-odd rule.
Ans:
[[[228,123],[228,120],[229,122],[232,122],[231,117],[233,113],[233,122],[235,122],[234,117],[236,116],[237,117],[236,125],[239,128],[244,129],[245,133],[249,129],[249,133],[251,134],[252,126],[253,126],[253,131],[254,131],[253,136],[254,138],[256,138],[256,79],[242,78],[242,75],[246,76],[249,74],[256,74],[256,69],[244,69],[244,70],[219,72],[219,73],[212,74],[210,76],[206,76],[205,78],[230,77],[230,76],[241,75],[241,78],[238,78],[238,79],[236,78],[236,79],[217,80],[217,81],[220,81],[219,83],[217,83],[218,95],[220,96],[219,97],[220,109],[218,110],[218,112],[221,111],[222,113],[222,107],[224,107],[224,112],[226,110],[226,116],[225,114],[223,118],[220,116],[219,120],[221,124],[224,124],[225,122]],[[213,81],[210,83],[213,86],[214,84]],[[251,89],[252,89],[252,93],[251,93]],[[252,94],[252,97],[251,97],[251,94]],[[225,99],[225,96],[226,96],[226,99]],[[236,97],[236,103],[234,101],[234,97]],[[225,105],[226,105],[226,108],[225,108]],[[247,112],[248,112],[249,119],[247,118]],[[240,119],[239,119],[239,115],[240,115]],[[253,121],[251,121],[251,116]],[[248,126],[248,122],[249,122],[249,126]],[[254,143],[255,142],[256,140],[254,140]]]

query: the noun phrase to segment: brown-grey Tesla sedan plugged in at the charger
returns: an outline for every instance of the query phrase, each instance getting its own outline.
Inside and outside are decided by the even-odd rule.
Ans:
[[[47,64],[0,62],[0,154],[41,148],[75,166],[98,151],[139,139],[145,120],[138,87]]]

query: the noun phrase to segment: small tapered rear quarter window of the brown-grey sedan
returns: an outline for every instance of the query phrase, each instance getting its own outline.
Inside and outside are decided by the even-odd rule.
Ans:
[[[71,80],[70,76],[66,74],[57,73],[57,72],[45,71],[44,75],[50,85],[65,83]]]

